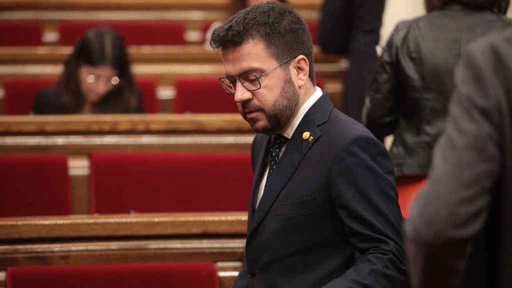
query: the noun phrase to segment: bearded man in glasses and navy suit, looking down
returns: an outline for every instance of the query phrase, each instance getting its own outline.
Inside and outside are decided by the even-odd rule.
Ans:
[[[220,83],[254,131],[246,259],[235,287],[393,287],[406,282],[386,149],[314,83],[304,21],[281,3],[217,28]]]

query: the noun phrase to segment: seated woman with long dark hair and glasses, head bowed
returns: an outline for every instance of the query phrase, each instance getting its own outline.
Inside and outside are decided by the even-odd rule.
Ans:
[[[78,40],[57,84],[37,93],[33,106],[34,114],[140,112],[124,40],[108,28],[91,29]]]

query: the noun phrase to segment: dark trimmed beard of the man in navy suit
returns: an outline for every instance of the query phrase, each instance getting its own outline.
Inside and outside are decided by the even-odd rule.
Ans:
[[[251,107],[249,102],[242,104],[243,109],[241,109],[241,113],[246,121],[248,120],[243,111],[248,108],[247,106],[250,107],[250,110],[262,112],[266,117],[267,123],[261,128],[255,128],[251,122],[248,121],[255,132],[268,135],[278,134],[283,132],[291,121],[291,117],[295,114],[295,110],[297,109],[298,91],[295,89],[295,86],[293,86],[290,74],[288,74],[288,77],[285,79],[279,94],[280,96],[274,101],[272,107],[268,107],[267,110],[263,107]]]

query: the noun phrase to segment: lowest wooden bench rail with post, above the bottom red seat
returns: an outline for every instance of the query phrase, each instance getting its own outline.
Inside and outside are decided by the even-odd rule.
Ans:
[[[245,251],[247,212],[0,218],[0,287],[23,265],[208,261],[231,287]]]

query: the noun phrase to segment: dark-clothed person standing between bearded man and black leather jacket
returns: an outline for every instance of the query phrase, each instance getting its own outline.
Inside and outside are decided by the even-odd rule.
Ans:
[[[384,6],[385,0],[325,0],[318,23],[322,52],[348,56],[342,105],[347,115],[359,122],[377,59]]]

